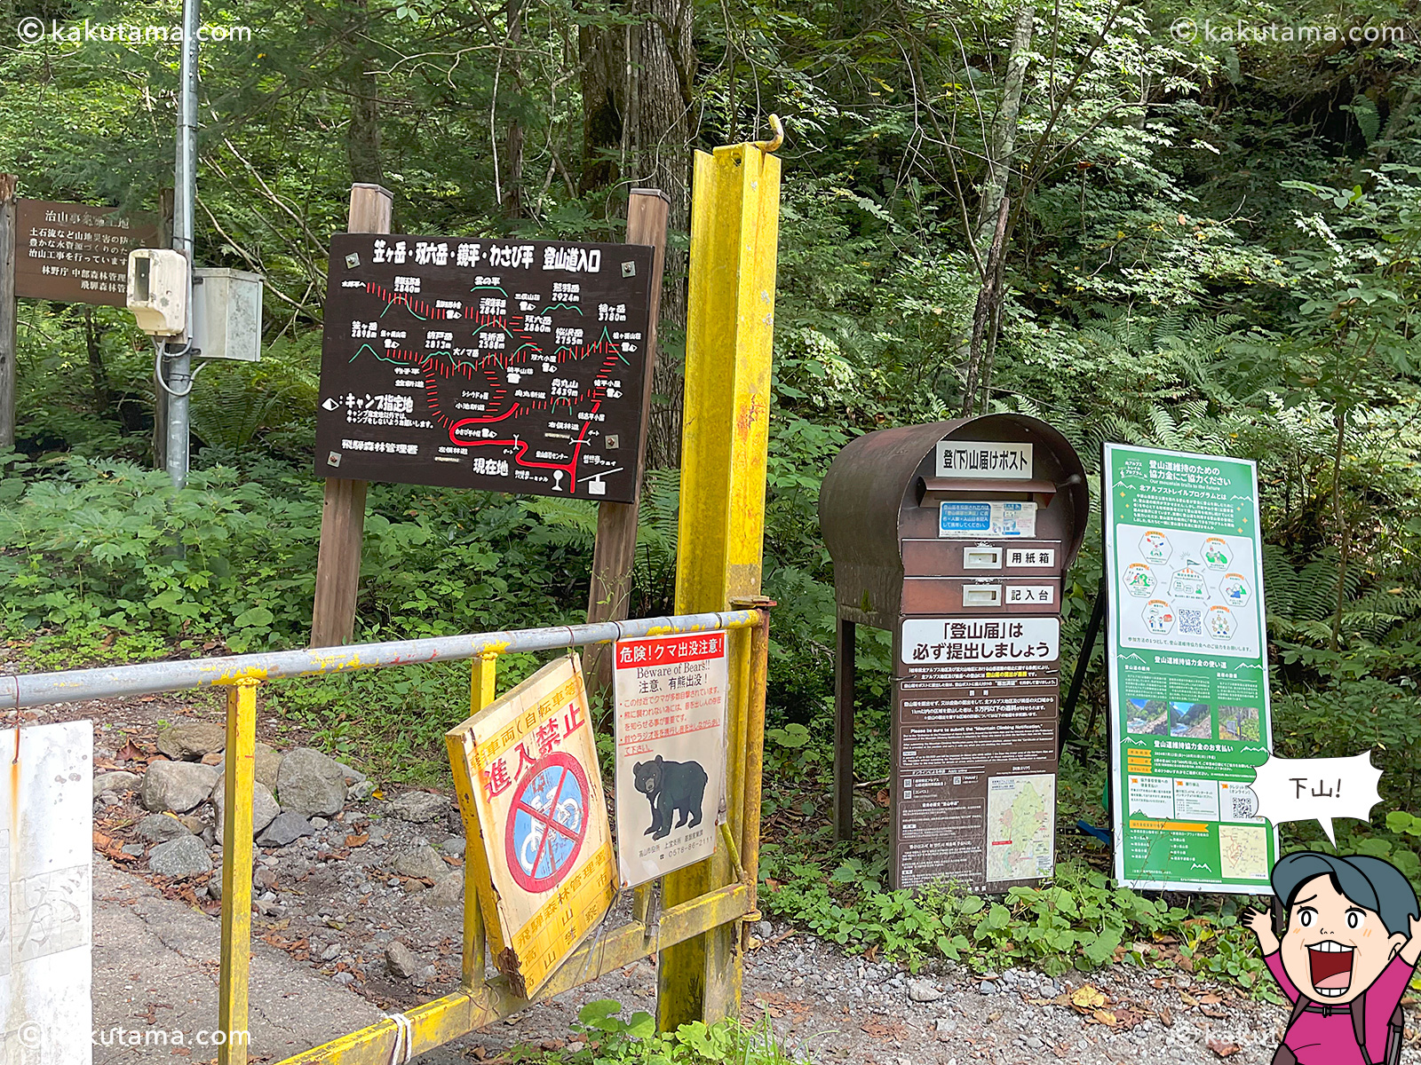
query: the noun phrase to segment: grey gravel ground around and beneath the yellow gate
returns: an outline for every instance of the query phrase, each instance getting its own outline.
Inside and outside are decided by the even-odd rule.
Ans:
[[[222,720],[222,710],[213,700],[158,696],[60,707],[36,720],[78,717],[95,721],[95,747],[102,757],[128,738],[139,746],[151,743],[159,720]],[[304,738],[276,720],[261,720],[259,733],[281,750]],[[254,936],[387,1011],[446,994],[459,974],[458,900],[431,905],[435,893],[425,882],[401,876],[396,859],[428,843],[441,851],[453,873],[462,865],[463,843],[452,804],[435,821],[411,824],[391,815],[389,798],[394,795],[350,804],[315,836],[259,851],[257,863],[269,872],[261,873],[264,902],[254,922]],[[135,795],[125,794],[115,805],[97,804],[95,828],[132,848],[142,842],[132,836],[132,825],[145,812]],[[210,809],[203,816],[210,821]],[[210,848],[210,853],[216,859],[220,849]],[[122,868],[216,920],[219,906],[206,897],[200,879],[171,883],[152,878],[144,855],[132,855]],[[212,879],[219,879],[219,870]],[[743,1017],[769,1018],[787,1049],[821,1062],[1187,1065],[1228,1058],[1263,1065],[1286,1020],[1280,1007],[1239,998],[1175,971],[1111,966],[1052,980],[1025,970],[971,974],[944,964],[914,976],[895,964],[845,956],[787,926],[762,922],[755,933],[746,956]],[[416,954],[419,964],[409,978],[387,964],[392,940]],[[95,973],[95,980],[102,978]],[[419,1061],[452,1065],[487,1059],[513,1044],[566,1047],[577,1039],[568,1028],[577,1008],[595,998],[615,998],[628,1012],[652,1008],[654,961],[617,970]],[[1403,1061],[1421,1065],[1410,1028],[1408,1037]]]

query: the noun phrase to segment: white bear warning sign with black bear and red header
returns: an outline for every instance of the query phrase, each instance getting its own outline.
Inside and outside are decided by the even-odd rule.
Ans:
[[[726,633],[618,640],[615,666],[617,866],[635,888],[715,852]]]

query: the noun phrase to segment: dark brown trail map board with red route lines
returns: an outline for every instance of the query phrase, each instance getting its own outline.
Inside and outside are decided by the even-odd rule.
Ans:
[[[631,503],[652,254],[337,234],[317,476]]]

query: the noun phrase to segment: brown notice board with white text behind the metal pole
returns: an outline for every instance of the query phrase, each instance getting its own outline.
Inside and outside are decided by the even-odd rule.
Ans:
[[[16,202],[14,294],[71,304],[128,305],[128,253],[155,247],[151,222],[117,207]]]

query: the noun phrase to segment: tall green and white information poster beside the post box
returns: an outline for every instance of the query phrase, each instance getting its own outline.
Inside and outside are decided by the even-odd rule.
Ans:
[[[1252,462],[1106,444],[1115,878],[1266,893],[1277,851],[1248,785],[1268,758]]]

